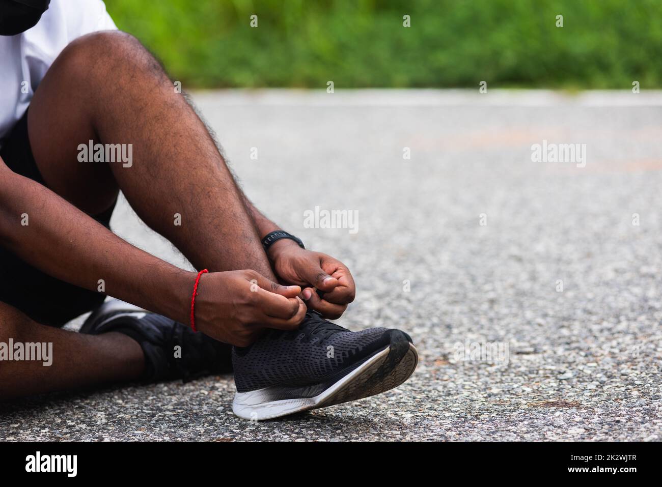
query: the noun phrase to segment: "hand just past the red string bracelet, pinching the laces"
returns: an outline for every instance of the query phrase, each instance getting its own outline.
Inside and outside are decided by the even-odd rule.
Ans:
[[[224,343],[246,347],[264,328],[295,330],[306,305],[299,286],[281,286],[256,271],[203,274],[195,297],[198,330]]]

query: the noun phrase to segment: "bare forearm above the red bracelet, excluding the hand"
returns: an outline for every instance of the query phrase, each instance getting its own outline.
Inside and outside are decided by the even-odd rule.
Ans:
[[[164,314],[187,319],[195,274],[133,245],[66,200],[0,169],[0,241],[48,275]]]

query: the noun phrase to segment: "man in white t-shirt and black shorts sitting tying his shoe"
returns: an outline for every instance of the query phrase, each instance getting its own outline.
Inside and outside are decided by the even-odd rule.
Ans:
[[[0,343],[48,342],[54,355],[50,367],[0,361],[0,397],[234,369],[233,410],[259,420],[413,373],[406,333],[324,320],[354,300],[350,271],[253,206],[101,0],[0,0],[0,54]],[[79,157],[81,144],[128,146],[131,161]],[[113,234],[119,191],[202,270]],[[89,311],[80,333],[61,329]]]

